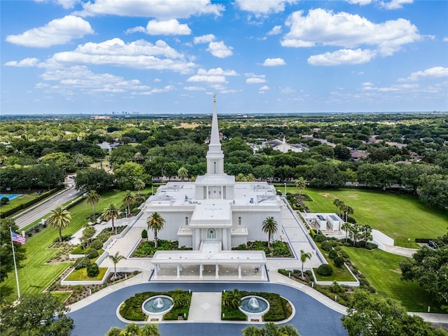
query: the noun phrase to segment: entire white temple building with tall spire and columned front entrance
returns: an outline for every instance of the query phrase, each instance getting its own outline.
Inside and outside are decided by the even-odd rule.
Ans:
[[[158,251],[153,257],[155,276],[160,266],[198,265],[200,279],[204,265],[215,265],[219,279],[220,265],[255,265],[265,275],[266,256],[262,251],[232,251],[247,241],[267,240],[262,222],[272,216],[281,232],[281,209],[284,205],[274,186],[267,182],[235,182],[224,172],[224,153],[219,139],[216,96],[211,121],[211,139],[207,152],[207,174],[195,182],[169,182],[148,198],[144,211],[149,217],[158,212],[165,219],[160,239],[178,240],[179,246],[193,251]],[[150,232],[148,232],[150,233]]]

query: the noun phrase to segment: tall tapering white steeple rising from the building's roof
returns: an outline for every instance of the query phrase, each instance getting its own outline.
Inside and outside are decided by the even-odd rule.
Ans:
[[[207,174],[224,174],[224,153],[219,141],[218,114],[216,113],[216,94],[213,96],[213,116],[209,151],[207,152]]]

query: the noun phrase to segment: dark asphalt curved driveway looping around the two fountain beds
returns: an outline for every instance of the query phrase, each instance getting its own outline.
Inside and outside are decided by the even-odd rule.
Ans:
[[[275,283],[139,283],[116,290],[77,311],[68,314],[74,320],[73,336],[102,336],[113,326],[124,328],[123,323],[116,316],[118,305],[128,297],[145,291],[166,291],[180,288],[193,292],[221,292],[223,290],[248,290],[255,292],[279,293],[286,297],[295,306],[295,316],[288,321],[297,328],[302,336],[331,335],[347,336],[342,327],[340,318],[342,314],[326,307],[313,297],[300,290]],[[241,330],[246,323],[188,323],[176,322],[160,323],[159,330],[162,336],[202,336],[216,335],[237,336],[242,335]]]

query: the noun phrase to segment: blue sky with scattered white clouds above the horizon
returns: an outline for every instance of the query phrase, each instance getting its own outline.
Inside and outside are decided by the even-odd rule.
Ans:
[[[1,1],[1,113],[448,111],[448,1]]]

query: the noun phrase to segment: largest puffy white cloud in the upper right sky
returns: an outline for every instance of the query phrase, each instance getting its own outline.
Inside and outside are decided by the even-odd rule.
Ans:
[[[359,15],[333,13],[322,8],[309,10],[307,16],[303,10],[298,10],[288,17],[286,25],[290,31],[281,41],[285,47],[374,45],[380,55],[386,56],[422,38],[418,29],[405,19],[376,24]]]

